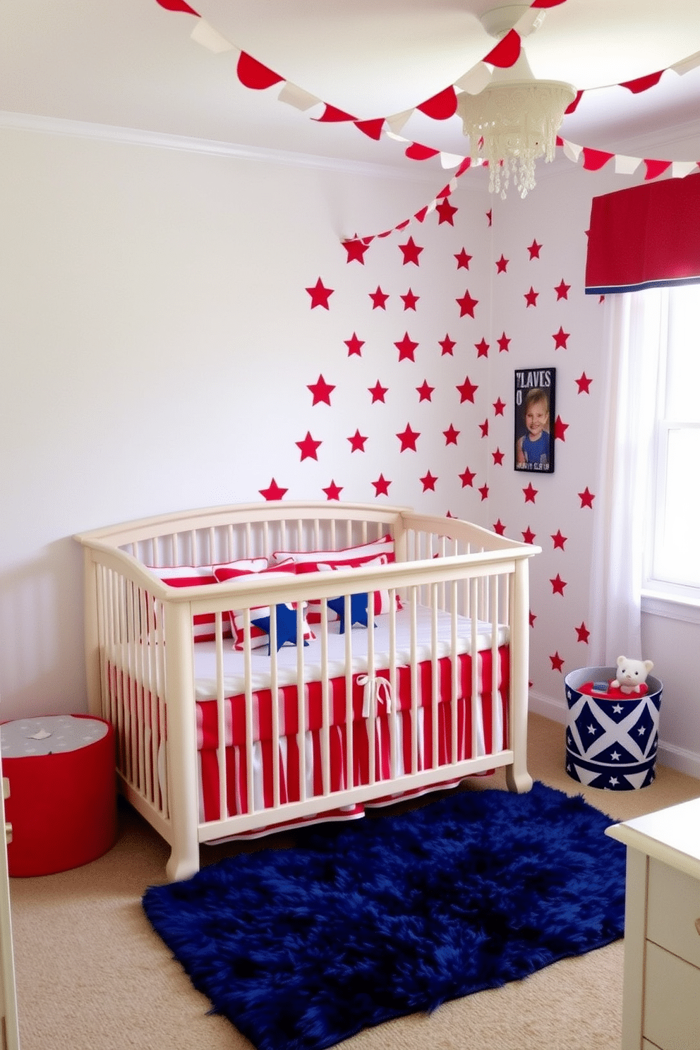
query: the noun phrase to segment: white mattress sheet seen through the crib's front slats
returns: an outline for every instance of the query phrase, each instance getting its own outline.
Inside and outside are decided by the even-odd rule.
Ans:
[[[375,616],[374,630],[374,669],[389,667],[389,615]],[[396,614],[396,666],[410,663],[411,614],[409,609],[401,609]],[[471,651],[471,620],[466,616],[457,617],[457,650],[455,654]],[[315,628],[318,634],[318,627]],[[508,627],[500,624],[496,628],[496,646],[508,644]],[[452,617],[447,612],[439,611],[437,615],[437,648],[432,653],[432,611],[426,606],[417,607],[416,616],[416,653],[415,659],[422,662],[452,654]],[[352,672],[365,673],[368,669],[368,632],[364,628],[354,628],[352,631]],[[476,625],[476,651],[483,652],[492,646],[492,625],[479,622]],[[345,635],[338,633],[338,624],[328,624],[327,634],[327,675],[336,678],[346,673]],[[321,678],[321,640],[316,638],[303,647],[303,680],[318,681]],[[277,653],[277,685],[278,687],[296,685],[298,680],[298,653],[296,646],[284,646]],[[224,639],[224,695],[234,696],[246,690],[246,674],[243,653],[233,649],[230,639]],[[250,688],[254,691],[269,689],[271,659],[267,647],[253,650],[251,654]],[[216,644],[200,642],[194,646],[194,679],[195,697],[197,700],[214,699],[217,695],[216,676]]]

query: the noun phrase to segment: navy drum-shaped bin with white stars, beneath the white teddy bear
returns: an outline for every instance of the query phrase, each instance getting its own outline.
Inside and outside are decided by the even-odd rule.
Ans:
[[[646,678],[648,691],[622,695],[603,690],[614,667],[585,667],[564,679],[567,697],[566,770],[572,780],[606,791],[634,791],[653,783],[663,687]]]

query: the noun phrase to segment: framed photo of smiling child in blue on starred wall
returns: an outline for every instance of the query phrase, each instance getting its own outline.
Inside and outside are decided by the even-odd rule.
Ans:
[[[515,370],[515,469],[554,472],[556,369]]]

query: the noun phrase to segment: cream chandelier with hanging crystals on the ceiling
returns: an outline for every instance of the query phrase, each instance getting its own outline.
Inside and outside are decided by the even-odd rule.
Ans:
[[[534,188],[535,161],[554,160],[556,133],[575,97],[571,84],[535,80],[524,50],[515,65],[495,69],[479,94],[459,96],[471,160],[488,162],[492,193],[505,198],[511,177],[522,197]]]

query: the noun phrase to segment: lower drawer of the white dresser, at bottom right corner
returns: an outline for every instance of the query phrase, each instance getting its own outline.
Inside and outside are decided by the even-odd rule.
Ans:
[[[700,1050],[700,970],[650,943],[643,1035],[662,1050]]]

